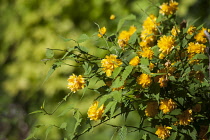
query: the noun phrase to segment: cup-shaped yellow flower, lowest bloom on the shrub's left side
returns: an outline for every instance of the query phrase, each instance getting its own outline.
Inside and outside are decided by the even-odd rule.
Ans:
[[[98,108],[98,101],[95,101],[88,110],[88,117],[90,118],[90,120],[100,120],[104,113],[104,109],[104,105],[101,105],[101,107]]]

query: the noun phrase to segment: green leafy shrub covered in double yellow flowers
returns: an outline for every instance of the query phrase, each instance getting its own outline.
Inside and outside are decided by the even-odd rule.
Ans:
[[[126,123],[114,126],[120,133],[139,133],[144,140],[208,138],[209,30],[203,25],[187,25],[186,21],[177,23],[178,3],[173,0],[159,8],[159,17],[151,14],[143,25],[121,30],[125,19],[121,20],[119,34],[114,36],[108,35],[108,27],[99,28],[97,36],[105,47],[97,47],[106,51],[103,58],[89,53],[75,41],[78,45],[64,50],[64,56],[54,63],[47,77],[63,60],[74,60],[77,65],[69,65],[84,70],[79,76],[69,77],[70,93],[60,104],[78,90],[90,89],[92,78],[96,79],[95,84],[103,83],[90,89],[97,92],[98,97],[93,99],[85,117],[75,109],[76,124],[70,139],[77,139],[92,128],[131,112],[138,113],[141,121],[135,126]],[[89,39],[87,35],[81,38],[82,41]],[[54,51],[47,50],[50,58],[53,55],[49,54]],[[39,112],[49,114],[44,106]],[[90,126],[81,132],[77,128],[86,118]],[[91,125],[92,121],[99,120],[98,124]]]

